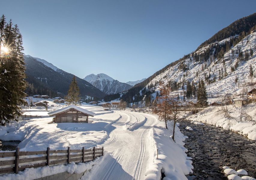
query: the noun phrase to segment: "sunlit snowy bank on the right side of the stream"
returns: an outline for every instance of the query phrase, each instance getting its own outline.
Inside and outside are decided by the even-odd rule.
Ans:
[[[207,107],[196,115],[189,116],[193,122],[203,122],[210,125],[215,125],[230,131],[235,131],[239,134],[247,136],[251,140],[256,140],[256,103],[251,103],[243,106],[242,111],[253,118],[253,121],[242,119],[239,122],[241,107],[234,105],[227,106],[230,117],[225,117],[221,107]]]

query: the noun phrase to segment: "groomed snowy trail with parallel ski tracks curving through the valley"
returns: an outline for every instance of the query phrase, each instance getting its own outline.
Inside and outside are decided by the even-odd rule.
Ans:
[[[120,114],[120,118],[111,123],[110,139],[101,145],[109,153],[104,160],[106,164],[103,163],[95,168],[90,177],[144,179],[147,165],[154,157],[154,144],[150,136],[157,119],[149,114],[125,111],[116,111],[116,113]],[[140,123],[143,120],[145,123]],[[133,130],[126,128],[128,124],[135,122],[137,122],[136,128]]]

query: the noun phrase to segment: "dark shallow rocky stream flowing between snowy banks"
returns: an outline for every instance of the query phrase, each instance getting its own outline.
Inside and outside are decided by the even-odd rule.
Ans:
[[[201,125],[200,125],[201,124]],[[256,177],[256,142],[242,135],[217,128],[183,121],[180,131],[188,136],[185,141],[187,155],[193,158],[193,173],[190,179],[227,179],[223,166],[234,170],[244,169],[248,176]],[[185,130],[189,126],[192,131]]]

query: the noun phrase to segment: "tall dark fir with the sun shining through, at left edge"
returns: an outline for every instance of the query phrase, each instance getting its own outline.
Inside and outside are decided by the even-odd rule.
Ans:
[[[23,43],[17,25],[0,18],[0,119],[1,125],[18,120],[21,105],[26,104],[26,74],[23,59]]]

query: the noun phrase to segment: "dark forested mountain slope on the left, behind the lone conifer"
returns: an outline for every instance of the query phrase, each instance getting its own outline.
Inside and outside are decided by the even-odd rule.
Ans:
[[[28,95],[36,93],[52,97],[58,94],[62,96],[67,94],[74,76],[73,74],[65,72],[43,59],[34,58],[30,55],[25,55],[24,61],[27,75],[26,81],[30,87],[26,90]],[[81,97],[91,96],[103,98],[106,95],[84,79],[76,77],[76,80],[80,88]]]

